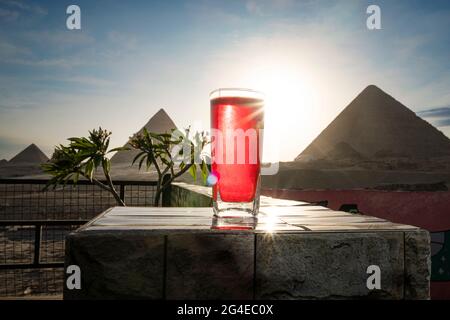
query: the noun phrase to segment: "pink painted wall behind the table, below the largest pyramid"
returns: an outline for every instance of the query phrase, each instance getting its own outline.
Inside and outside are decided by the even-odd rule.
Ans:
[[[343,204],[357,204],[358,210],[367,215],[418,226],[430,232],[450,232],[450,192],[447,191],[265,189],[262,194],[306,202],[326,200],[333,210]],[[432,299],[450,299],[450,281],[432,281],[431,296]]]

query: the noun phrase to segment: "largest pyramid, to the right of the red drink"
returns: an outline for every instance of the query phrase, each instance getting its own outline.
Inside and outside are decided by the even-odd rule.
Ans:
[[[450,155],[449,138],[374,85],[365,88],[296,160],[324,158],[342,143],[369,158]]]

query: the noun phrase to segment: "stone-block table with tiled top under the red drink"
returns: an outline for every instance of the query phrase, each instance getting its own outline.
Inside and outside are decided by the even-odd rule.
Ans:
[[[258,223],[212,208],[114,207],[66,239],[65,299],[428,299],[427,231],[264,197]],[[371,265],[380,289],[368,289]],[[67,277],[67,275],[66,275]]]

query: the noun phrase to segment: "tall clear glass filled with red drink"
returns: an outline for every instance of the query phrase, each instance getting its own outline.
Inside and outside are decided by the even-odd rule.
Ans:
[[[264,99],[248,89],[217,89],[211,101],[213,207],[216,217],[256,218]]]

